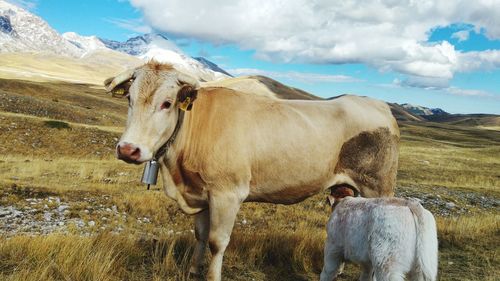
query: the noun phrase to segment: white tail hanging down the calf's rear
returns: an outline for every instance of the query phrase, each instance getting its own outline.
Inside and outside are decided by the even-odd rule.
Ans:
[[[438,241],[436,221],[431,212],[420,205],[416,199],[410,200],[409,208],[415,219],[417,231],[416,270],[423,280],[434,281],[438,270]]]

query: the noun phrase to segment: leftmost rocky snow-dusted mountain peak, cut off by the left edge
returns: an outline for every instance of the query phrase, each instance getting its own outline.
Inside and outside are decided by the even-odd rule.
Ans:
[[[0,52],[44,51],[78,57],[82,50],[40,17],[0,0]]]

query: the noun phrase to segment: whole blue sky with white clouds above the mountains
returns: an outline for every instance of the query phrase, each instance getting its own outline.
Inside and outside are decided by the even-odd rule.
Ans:
[[[500,114],[500,0],[10,0],[60,33],[161,32],[234,75]]]

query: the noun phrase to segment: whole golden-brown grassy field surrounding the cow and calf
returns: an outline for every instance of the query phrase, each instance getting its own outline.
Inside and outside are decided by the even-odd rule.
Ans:
[[[114,159],[125,113],[86,85],[0,80],[0,280],[186,280],[193,218]],[[500,132],[400,126],[397,194],[436,215],[440,280],[499,280]],[[224,280],[317,280],[323,202],[245,204]]]

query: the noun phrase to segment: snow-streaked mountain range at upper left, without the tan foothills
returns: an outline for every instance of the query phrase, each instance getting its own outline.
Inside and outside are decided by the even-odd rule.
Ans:
[[[42,18],[4,0],[0,0],[0,52],[46,53],[80,61],[95,53],[112,56],[116,55],[113,52],[119,52],[141,61],[154,59],[171,63],[202,81],[229,76],[206,58],[186,55],[162,34],[144,34],[125,42],[82,36],[75,32],[59,34]]]

